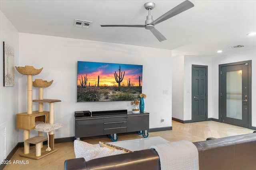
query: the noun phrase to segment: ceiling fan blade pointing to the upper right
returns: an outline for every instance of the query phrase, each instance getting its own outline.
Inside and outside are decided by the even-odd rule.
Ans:
[[[182,2],[181,4],[179,4],[178,6],[172,8],[170,11],[166,12],[165,14],[163,14],[156,20],[154,20],[151,24],[156,25],[162,21],[165,21],[173,16],[176,16],[177,14],[180,14],[180,13],[192,8],[193,6],[194,6],[194,4],[192,4],[192,2],[186,0],[186,1]]]

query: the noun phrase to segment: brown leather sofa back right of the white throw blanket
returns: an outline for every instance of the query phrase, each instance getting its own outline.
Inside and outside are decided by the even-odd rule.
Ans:
[[[195,142],[199,169],[252,170],[256,167],[256,133]]]

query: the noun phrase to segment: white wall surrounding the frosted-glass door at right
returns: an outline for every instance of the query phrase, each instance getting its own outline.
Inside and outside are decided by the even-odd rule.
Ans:
[[[256,107],[254,105],[254,102],[256,101],[256,90],[255,90],[255,84],[256,84],[256,49],[240,52],[240,53],[233,53],[227,56],[220,56],[212,59],[212,117],[218,119],[218,69],[219,64],[227,64],[227,63],[234,63],[239,61],[247,61],[252,60],[252,126],[256,127]]]

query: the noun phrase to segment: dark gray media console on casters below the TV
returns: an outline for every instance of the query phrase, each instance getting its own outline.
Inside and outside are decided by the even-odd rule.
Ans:
[[[90,116],[75,115],[75,138],[108,135],[117,141],[117,133],[138,132],[148,137],[149,113],[127,110],[92,111]]]

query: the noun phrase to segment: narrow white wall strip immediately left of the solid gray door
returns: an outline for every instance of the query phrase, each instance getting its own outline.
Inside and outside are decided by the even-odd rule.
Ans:
[[[172,117],[184,120],[184,56],[172,58]]]

